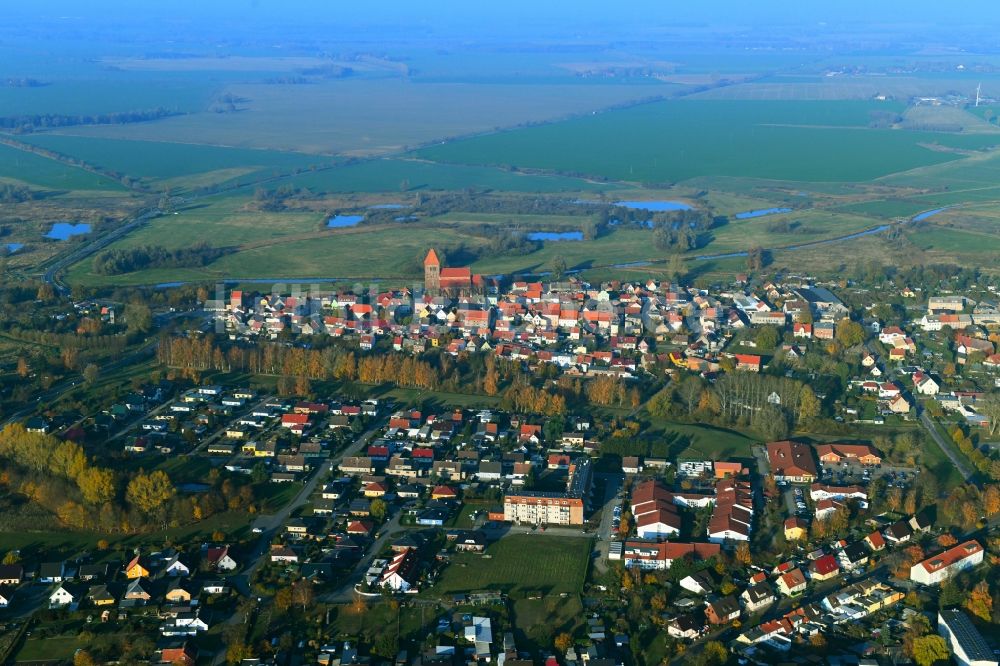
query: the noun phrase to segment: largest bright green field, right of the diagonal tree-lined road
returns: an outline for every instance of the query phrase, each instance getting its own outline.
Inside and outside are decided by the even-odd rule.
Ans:
[[[743,176],[865,181],[1000,144],[992,135],[880,130],[873,102],[676,100],[424,148],[426,159],[587,173],[623,181]],[[922,145],[923,144],[923,145]],[[937,144],[945,150],[932,150]]]

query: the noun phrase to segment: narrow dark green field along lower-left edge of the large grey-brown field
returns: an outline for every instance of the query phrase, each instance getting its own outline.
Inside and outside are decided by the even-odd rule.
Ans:
[[[163,187],[248,182],[297,169],[325,166],[316,155],[243,148],[218,148],[160,141],[93,139],[61,134],[34,134],[28,143]]]

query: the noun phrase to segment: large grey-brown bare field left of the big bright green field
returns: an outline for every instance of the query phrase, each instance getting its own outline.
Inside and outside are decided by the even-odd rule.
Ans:
[[[153,123],[75,127],[67,133],[320,154],[394,153],[448,137],[626,103],[677,86],[421,83],[351,77],[313,85],[239,83],[220,94],[241,100],[237,113],[205,110]]]

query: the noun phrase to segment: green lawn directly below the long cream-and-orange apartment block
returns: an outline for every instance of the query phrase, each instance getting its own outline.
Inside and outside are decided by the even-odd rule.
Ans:
[[[513,535],[486,554],[456,553],[431,588],[435,596],[493,590],[528,594],[579,594],[587,576],[590,539],[546,534]]]

